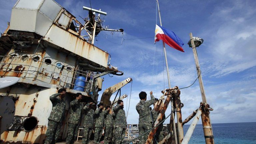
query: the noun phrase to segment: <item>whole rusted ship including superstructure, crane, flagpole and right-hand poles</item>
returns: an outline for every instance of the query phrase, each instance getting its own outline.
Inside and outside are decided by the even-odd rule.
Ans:
[[[162,26],[158,0],[156,2]],[[83,9],[88,10],[89,15],[82,24],[54,0],[18,0],[12,8],[10,23],[0,37],[0,77],[18,78],[18,81],[3,88],[2,83],[12,80],[0,81],[1,143],[44,143],[48,117],[52,110],[49,97],[63,87],[67,90],[66,119],[62,123],[59,139],[64,141],[68,130],[69,103],[74,99],[74,95],[81,92],[83,102],[97,103],[98,92],[102,89],[101,76],[123,75],[122,71],[111,66],[110,54],[94,45],[94,38],[100,31],[123,32],[123,29],[104,28],[100,15],[106,15],[105,12],[87,7]],[[190,33],[188,44],[193,49],[202,102],[199,108],[183,121],[183,104],[180,100],[182,88],[170,86],[163,43],[169,88],[162,91],[163,95],[155,105],[160,113],[148,135],[147,144],[152,142],[158,125],[164,121],[163,115],[169,103],[172,112],[166,118],[171,116],[170,124],[165,126],[167,133],[159,144],[187,144],[200,116],[205,142],[214,144],[209,117],[213,109],[206,102],[196,53],[196,47],[202,42],[202,39],[193,37]],[[79,81],[83,84],[78,84]],[[120,92],[120,88],[131,81],[131,78],[127,78],[107,88],[100,102],[103,102],[104,106],[116,103],[116,98],[110,102],[111,95],[116,91]],[[125,97],[126,95],[121,97],[119,93],[119,99]],[[183,125],[193,117],[195,118],[184,136]],[[126,132],[126,144],[137,143],[137,139],[143,136],[138,136],[137,124],[127,125]]]

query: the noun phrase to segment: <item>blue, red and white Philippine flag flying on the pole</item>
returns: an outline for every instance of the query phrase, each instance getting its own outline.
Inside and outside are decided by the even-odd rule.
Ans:
[[[173,31],[170,31],[170,30],[168,30],[164,27],[161,27],[159,25],[156,25],[155,42],[157,42],[159,40],[163,40],[170,47],[184,52],[184,50],[182,48],[184,43]]]

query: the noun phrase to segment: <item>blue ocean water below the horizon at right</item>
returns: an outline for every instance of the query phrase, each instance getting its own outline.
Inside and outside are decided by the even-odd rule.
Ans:
[[[212,124],[215,144],[256,144],[256,122]],[[189,125],[184,125],[184,136]],[[197,124],[189,144],[205,144],[202,124]]]

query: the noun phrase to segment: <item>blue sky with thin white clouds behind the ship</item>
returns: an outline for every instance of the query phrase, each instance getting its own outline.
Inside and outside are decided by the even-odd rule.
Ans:
[[[80,22],[83,21],[79,16],[88,15],[82,9],[82,6],[90,7],[88,0],[56,1]],[[0,0],[0,32],[6,29],[15,2]],[[135,105],[139,102],[139,92],[145,91],[149,95],[152,90],[155,97],[159,98],[161,90],[168,87],[162,43],[154,45],[154,38],[124,40],[122,44],[121,41],[122,37],[154,37],[155,0],[91,0],[91,5],[94,9],[108,13],[104,25],[124,29],[123,35],[101,32],[96,38],[95,45],[111,54],[111,65],[124,72],[123,76],[104,76],[103,90],[99,94],[107,87],[131,77],[132,91],[131,84],[127,84],[121,92],[129,98],[131,92],[127,122],[137,123]],[[197,53],[207,102],[214,108],[210,114],[212,123],[256,121],[255,7],[256,2],[253,0],[160,1],[163,27],[174,31],[185,43],[185,53],[166,46],[172,87],[186,87],[197,77],[192,49],[186,44],[189,33],[204,39]],[[181,90],[180,96],[184,103],[182,117],[185,119],[199,107],[201,94],[198,81]],[[127,111],[127,99],[124,99],[124,103]],[[167,110],[168,114],[170,109]],[[165,123],[169,123],[169,119]]]

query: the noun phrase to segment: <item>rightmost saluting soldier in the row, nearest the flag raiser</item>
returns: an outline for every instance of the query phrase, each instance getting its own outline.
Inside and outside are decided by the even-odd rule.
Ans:
[[[121,144],[124,142],[125,130],[127,127],[124,102],[122,100],[117,101],[117,105],[113,107],[115,113],[115,144]]]

